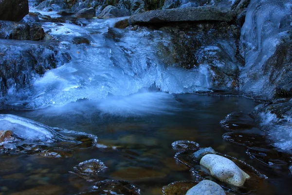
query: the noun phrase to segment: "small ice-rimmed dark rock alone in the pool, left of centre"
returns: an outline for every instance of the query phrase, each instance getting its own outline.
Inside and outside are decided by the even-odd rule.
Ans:
[[[74,172],[77,176],[80,176],[85,179],[94,179],[97,174],[108,167],[98,159],[86,160],[80,162],[78,165],[73,167]]]

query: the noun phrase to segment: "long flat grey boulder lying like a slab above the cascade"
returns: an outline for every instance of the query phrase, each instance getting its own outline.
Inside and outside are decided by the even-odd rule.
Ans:
[[[154,10],[130,17],[132,24],[179,21],[231,21],[236,13],[215,6]]]

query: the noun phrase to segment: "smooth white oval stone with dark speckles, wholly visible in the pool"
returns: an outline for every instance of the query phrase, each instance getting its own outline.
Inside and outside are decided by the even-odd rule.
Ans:
[[[223,156],[205,155],[201,158],[200,165],[220,181],[234,186],[243,186],[245,180],[250,178],[232,160]]]

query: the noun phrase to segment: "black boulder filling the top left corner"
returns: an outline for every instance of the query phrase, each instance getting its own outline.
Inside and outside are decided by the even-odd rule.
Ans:
[[[0,20],[20,21],[28,12],[28,0],[0,0]]]

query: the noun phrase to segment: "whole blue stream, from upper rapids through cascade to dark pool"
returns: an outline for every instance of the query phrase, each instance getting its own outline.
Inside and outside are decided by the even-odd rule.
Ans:
[[[174,158],[172,143],[177,140],[212,147],[267,176],[256,190],[245,193],[292,194],[291,154],[270,147],[269,140],[253,142],[249,148],[250,140],[264,139],[255,129],[239,136],[248,140],[244,144],[223,138],[227,131],[220,121],[232,112],[251,113],[259,102],[228,92],[210,95],[212,80],[207,68],[184,69],[166,63],[174,59],[161,51],[171,44],[170,35],[155,27],[113,28],[116,21],[127,17],[85,20],[30,7],[30,12],[36,11],[56,19],[37,22],[52,40],[1,39],[0,43],[14,51],[34,44],[54,47],[69,54],[70,60],[46,70],[42,77],[33,75],[31,84],[20,90],[12,84],[0,114],[92,134],[97,136],[97,146],[65,152],[62,157],[0,153],[0,195],[88,192],[94,182],[70,172],[93,158],[108,167],[98,174],[99,180],[127,180],[142,195],[160,195],[171,182],[200,180]],[[231,51],[233,45],[226,42],[221,42],[222,48]],[[212,49],[204,52],[211,55]],[[45,58],[51,52],[45,49],[42,55]],[[255,148],[258,153],[251,152]]]

